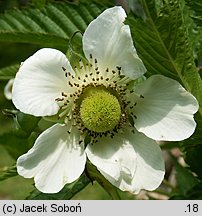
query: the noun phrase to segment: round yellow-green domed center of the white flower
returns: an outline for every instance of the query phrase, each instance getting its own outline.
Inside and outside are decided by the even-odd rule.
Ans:
[[[91,131],[110,131],[120,121],[121,106],[110,91],[95,87],[90,89],[81,101],[80,117],[84,126]]]

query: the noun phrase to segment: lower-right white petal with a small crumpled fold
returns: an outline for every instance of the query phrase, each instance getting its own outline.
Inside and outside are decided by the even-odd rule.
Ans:
[[[159,146],[141,133],[124,130],[113,139],[101,138],[86,148],[89,160],[105,178],[123,191],[154,190],[164,177]]]

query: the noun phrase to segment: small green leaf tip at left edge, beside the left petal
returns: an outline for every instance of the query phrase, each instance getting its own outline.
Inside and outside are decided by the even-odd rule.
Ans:
[[[0,80],[9,80],[15,77],[19,64],[11,65],[0,69]]]

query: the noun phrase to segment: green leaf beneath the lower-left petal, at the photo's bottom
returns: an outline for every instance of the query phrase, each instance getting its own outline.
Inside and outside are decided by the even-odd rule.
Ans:
[[[26,198],[28,200],[68,200],[74,195],[79,193],[83,188],[85,188],[90,183],[90,180],[85,174],[83,174],[78,180],[71,184],[67,184],[64,188],[56,194],[45,194],[41,193],[37,189],[32,191],[32,193]]]

